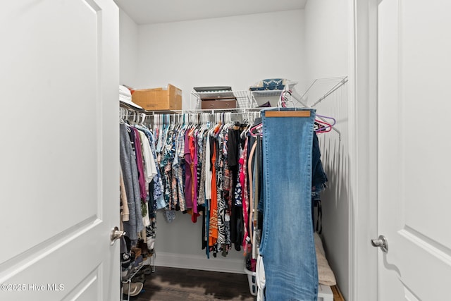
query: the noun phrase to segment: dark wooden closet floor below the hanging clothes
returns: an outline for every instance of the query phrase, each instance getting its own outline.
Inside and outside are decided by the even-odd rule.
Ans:
[[[249,283],[245,274],[174,269],[163,266],[156,266],[154,273],[145,276],[143,290],[136,297],[130,297],[130,300],[257,300],[257,297],[249,292]],[[344,301],[336,286],[333,286],[332,290],[334,301]],[[127,300],[126,296],[123,297]]]

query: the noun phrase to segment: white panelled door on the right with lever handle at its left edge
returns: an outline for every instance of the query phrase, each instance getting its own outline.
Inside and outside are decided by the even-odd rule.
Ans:
[[[451,1],[378,7],[378,300],[451,300]]]

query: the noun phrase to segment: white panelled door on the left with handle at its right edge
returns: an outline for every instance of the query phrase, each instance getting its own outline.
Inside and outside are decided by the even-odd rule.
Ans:
[[[0,300],[119,300],[118,8],[0,10]]]

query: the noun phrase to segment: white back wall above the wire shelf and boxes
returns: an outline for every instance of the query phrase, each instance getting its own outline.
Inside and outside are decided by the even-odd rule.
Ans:
[[[303,82],[304,11],[142,25],[137,88],[183,90],[190,108],[192,87],[230,85],[247,90],[264,78]]]

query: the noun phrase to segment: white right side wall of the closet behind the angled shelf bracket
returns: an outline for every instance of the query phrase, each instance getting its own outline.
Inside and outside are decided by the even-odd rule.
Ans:
[[[305,54],[307,78],[334,78],[349,75],[351,16],[347,0],[308,1],[305,7]],[[325,81],[330,83],[331,81]],[[324,87],[328,87],[327,85]],[[324,91],[326,92],[326,91]],[[312,104],[316,99],[309,99]],[[327,258],[345,299],[350,292],[350,135],[347,84],[327,97],[317,113],[337,119],[338,133],[319,135],[321,160],[328,175],[323,193],[323,243]]]

